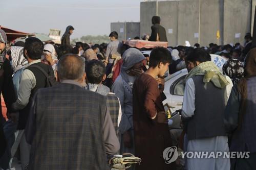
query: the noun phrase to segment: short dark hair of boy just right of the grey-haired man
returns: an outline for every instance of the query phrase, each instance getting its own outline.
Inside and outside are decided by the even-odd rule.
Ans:
[[[86,64],[86,76],[89,83],[99,84],[105,72],[106,68],[100,60],[91,60]]]

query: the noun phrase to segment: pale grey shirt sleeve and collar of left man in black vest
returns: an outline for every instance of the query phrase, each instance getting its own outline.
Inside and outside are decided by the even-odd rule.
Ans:
[[[40,59],[35,60],[28,64],[28,66],[41,62]],[[36,79],[33,72],[29,69],[25,69],[20,79],[18,89],[18,99],[12,104],[14,110],[22,110],[29,103],[30,94],[33,88],[35,88]]]

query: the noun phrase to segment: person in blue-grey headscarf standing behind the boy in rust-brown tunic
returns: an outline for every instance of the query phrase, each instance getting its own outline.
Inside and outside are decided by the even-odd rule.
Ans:
[[[123,54],[121,73],[112,86],[112,91],[118,96],[122,108],[122,118],[119,125],[120,154],[133,153],[133,84],[136,78],[142,74],[145,57],[136,48],[129,48]]]

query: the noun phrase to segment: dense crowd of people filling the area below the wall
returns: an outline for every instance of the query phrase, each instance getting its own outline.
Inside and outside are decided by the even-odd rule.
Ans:
[[[166,41],[160,17],[146,40]],[[0,169],[18,157],[22,169],[110,169],[108,157],[132,153],[131,169],[255,169],[256,48],[252,37],[232,46],[155,47],[150,56],[111,32],[109,44],[61,45],[29,37],[8,47],[0,29]],[[136,37],[139,39],[139,37]],[[210,54],[222,56],[223,70]],[[162,101],[164,76],[186,68],[181,127],[184,151],[250,152],[248,159],[186,159],[166,164],[176,146]],[[2,102],[3,103],[3,102]]]

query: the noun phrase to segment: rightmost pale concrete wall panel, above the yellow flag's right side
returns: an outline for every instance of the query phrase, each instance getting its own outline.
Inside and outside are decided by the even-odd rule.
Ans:
[[[251,30],[251,0],[225,0],[224,11],[224,44],[243,43]]]

